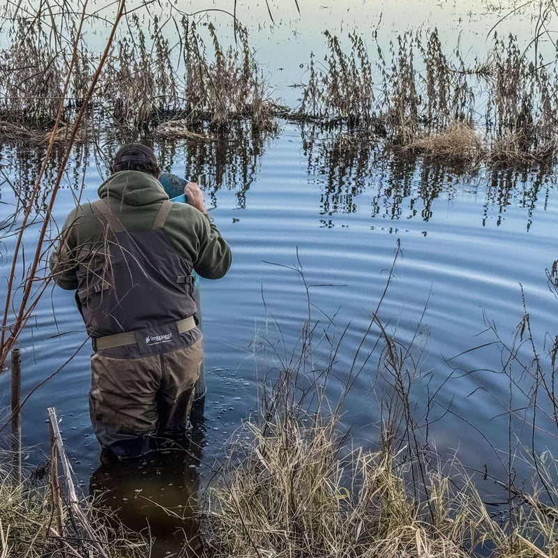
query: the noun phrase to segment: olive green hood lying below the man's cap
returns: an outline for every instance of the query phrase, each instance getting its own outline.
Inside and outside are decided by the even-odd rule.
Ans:
[[[169,199],[161,183],[151,174],[137,170],[115,172],[98,188],[100,198],[112,197],[128,205],[149,205]]]

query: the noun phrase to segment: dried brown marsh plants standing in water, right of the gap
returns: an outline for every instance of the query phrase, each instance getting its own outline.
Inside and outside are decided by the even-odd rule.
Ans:
[[[529,60],[517,38],[495,33],[485,60],[470,66],[459,48],[444,52],[437,29],[402,33],[387,54],[376,43],[375,61],[358,37],[349,34],[342,50],[325,36],[326,64],[310,56],[297,118],[364,129],[384,145],[455,163],[555,160],[556,65],[536,50]]]

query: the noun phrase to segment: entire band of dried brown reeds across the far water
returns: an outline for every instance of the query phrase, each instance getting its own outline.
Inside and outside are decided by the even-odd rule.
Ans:
[[[211,21],[177,10],[165,21],[133,12],[126,23],[84,118],[116,128],[125,140],[193,137],[200,125],[232,130],[239,120],[273,131],[286,117],[472,166],[550,165],[556,158],[556,64],[537,50],[531,56],[512,36],[495,34],[485,58],[469,63],[459,48],[444,52],[437,29],[403,33],[386,52],[378,30],[374,52],[356,33],[325,31],[325,63],[310,55],[308,78],[298,84],[301,103],[289,109],[272,98],[241,26],[236,43],[225,47]],[[61,100],[63,123],[82,107],[99,55],[82,35],[71,45],[52,37],[43,17],[15,20],[0,50],[1,137],[38,140],[52,129]]]

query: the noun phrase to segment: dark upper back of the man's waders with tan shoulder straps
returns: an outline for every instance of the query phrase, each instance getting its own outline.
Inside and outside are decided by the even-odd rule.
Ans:
[[[151,229],[134,231],[102,199],[92,208],[104,238],[87,248],[77,269],[76,299],[87,333],[102,337],[194,315],[193,264],[163,231],[172,202],[161,204]]]

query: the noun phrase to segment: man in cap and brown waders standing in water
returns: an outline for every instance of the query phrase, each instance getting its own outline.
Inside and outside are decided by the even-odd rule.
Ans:
[[[231,251],[206,213],[202,190],[173,204],[156,157],[123,146],[100,199],[66,218],[50,257],[52,275],[76,301],[93,342],[91,423],[117,458],[153,451],[186,432],[202,364],[192,271],[219,279]]]

